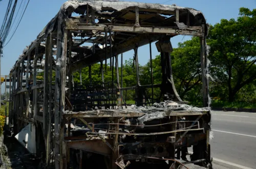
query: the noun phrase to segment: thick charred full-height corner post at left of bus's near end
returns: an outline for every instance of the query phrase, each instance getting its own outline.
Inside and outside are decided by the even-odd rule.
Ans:
[[[57,30],[57,54],[55,70],[55,168],[66,168],[66,147],[64,142],[63,112],[65,111],[65,83],[67,62],[67,30],[62,29],[62,20],[58,21]],[[64,33],[64,34],[63,34]],[[63,45],[62,45],[63,44]]]

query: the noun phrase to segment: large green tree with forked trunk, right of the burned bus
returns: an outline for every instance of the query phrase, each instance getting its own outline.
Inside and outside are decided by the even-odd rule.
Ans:
[[[227,86],[228,101],[256,79],[256,9],[240,8],[237,20],[222,19],[209,32],[214,76]]]

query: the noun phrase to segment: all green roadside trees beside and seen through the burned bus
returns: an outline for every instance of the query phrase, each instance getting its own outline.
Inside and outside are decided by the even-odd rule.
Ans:
[[[222,19],[209,26],[207,37],[208,73],[212,78],[209,92],[214,107],[256,108],[256,9],[240,8],[237,19]],[[180,97],[191,104],[201,106],[202,82],[200,64],[200,41],[191,40],[178,44],[171,54],[173,77]],[[148,57],[149,58],[149,57]],[[154,83],[161,83],[160,55],[153,59]],[[92,66],[93,81],[100,81],[100,64]],[[110,65],[104,72],[104,80],[112,80]],[[140,65],[141,85],[151,84],[150,62]],[[120,75],[120,65],[119,65]],[[81,70],[82,81],[89,82],[89,68]],[[116,80],[116,77],[115,79]],[[74,82],[79,82],[79,72],[74,74]],[[123,65],[123,87],[136,85],[134,60]],[[150,92],[150,91],[148,91]],[[157,97],[160,90],[155,89]],[[135,98],[134,91],[127,91],[127,100]],[[132,101],[127,101],[132,103]]]

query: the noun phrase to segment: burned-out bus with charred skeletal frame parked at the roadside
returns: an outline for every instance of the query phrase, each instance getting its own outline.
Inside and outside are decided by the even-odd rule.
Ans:
[[[207,29],[200,11],[176,5],[66,2],[11,69],[15,137],[48,168],[211,168]],[[177,35],[200,37],[204,108],[187,105],[175,89],[170,40]],[[150,61],[153,47],[160,53],[158,84],[152,64],[151,83],[140,83],[138,48],[144,45]],[[122,53],[130,50],[136,85],[123,87]],[[85,67],[89,80],[74,82]],[[135,91],[133,106],[126,104],[127,91]],[[190,147],[190,160],[182,161]]]

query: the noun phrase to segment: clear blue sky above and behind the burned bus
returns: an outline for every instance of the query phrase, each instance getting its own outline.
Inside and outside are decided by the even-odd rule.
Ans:
[[[26,0],[27,2],[28,0]],[[135,2],[142,3],[164,3],[167,0],[133,0]],[[18,2],[21,2],[19,0]],[[15,35],[10,43],[4,47],[4,57],[1,60],[1,74],[9,74],[10,69],[15,64],[20,53],[23,49],[36,39],[36,36],[41,32],[45,25],[56,15],[61,5],[66,2],[65,0],[43,0],[36,1],[31,0],[27,11],[20,23]],[[8,0],[0,2],[0,23],[2,24]],[[195,8],[203,12],[206,20],[210,24],[219,22],[222,18],[230,19],[237,18],[240,7],[246,7],[253,9],[256,7],[255,0],[173,0],[164,3],[165,5],[176,4],[176,6]],[[17,6],[18,7],[18,6]],[[15,15],[14,15],[15,16]],[[14,26],[13,26],[14,27]],[[7,41],[12,35],[14,30],[11,30]],[[172,44],[177,47],[178,42],[182,42],[189,39],[189,37],[178,36],[172,38]],[[6,42],[7,42],[6,41]],[[149,59],[149,47],[144,46],[139,48],[139,63],[144,65]],[[153,57],[158,54],[155,45],[153,45]],[[133,57],[133,52],[124,53],[124,60]],[[119,59],[120,61],[120,59]]]

